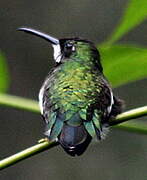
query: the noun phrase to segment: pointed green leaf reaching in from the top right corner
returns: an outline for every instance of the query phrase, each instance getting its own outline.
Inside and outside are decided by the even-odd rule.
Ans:
[[[112,33],[110,39],[106,42],[112,44],[119,40],[124,34],[128,33],[135,26],[142,23],[147,18],[146,0],[129,0],[120,24]]]

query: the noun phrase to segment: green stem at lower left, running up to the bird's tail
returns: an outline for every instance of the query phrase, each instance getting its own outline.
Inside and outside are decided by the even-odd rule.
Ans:
[[[58,145],[57,142],[49,142],[49,141],[44,141],[39,144],[36,144],[30,148],[27,148],[17,154],[14,154],[8,158],[5,158],[0,161],[0,170],[9,167],[13,164],[16,164],[17,162],[26,159],[30,156],[33,156],[35,154],[38,154],[42,151],[45,151],[46,149],[52,148],[54,146]]]

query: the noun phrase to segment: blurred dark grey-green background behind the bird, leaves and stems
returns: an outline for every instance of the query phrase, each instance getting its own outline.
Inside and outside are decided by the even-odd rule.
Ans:
[[[33,27],[58,38],[80,36],[101,44],[119,23],[127,2],[1,0],[0,50],[9,68],[8,93],[37,99],[41,84],[54,65],[50,44],[16,31],[18,27]],[[144,21],[119,42],[147,46],[146,32]],[[146,79],[114,91],[125,100],[126,110],[147,102]],[[0,122],[0,159],[43,137],[43,122],[38,114],[1,106]],[[5,169],[0,179],[146,180],[146,149],[146,135],[112,129],[105,141],[91,144],[83,156],[72,158],[55,147]]]

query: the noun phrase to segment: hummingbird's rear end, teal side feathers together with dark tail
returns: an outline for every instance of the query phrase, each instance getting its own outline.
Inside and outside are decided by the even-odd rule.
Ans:
[[[82,119],[82,113],[75,113],[68,120],[60,112],[50,114],[51,120],[47,124],[46,135],[50,141],[58,140],[63,149],[71,156],[81,155],[87,149],[94,136],[98,140],[104,139],[106,123],[101,122],[101,116],[97,110],[88,121]]]

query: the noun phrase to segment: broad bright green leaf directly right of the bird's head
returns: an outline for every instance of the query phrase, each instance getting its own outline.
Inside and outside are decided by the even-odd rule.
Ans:
[[[147,49],[131,45],[100,48],[104,74],[113,87],[147,77]]]

